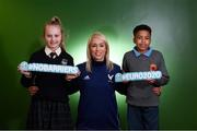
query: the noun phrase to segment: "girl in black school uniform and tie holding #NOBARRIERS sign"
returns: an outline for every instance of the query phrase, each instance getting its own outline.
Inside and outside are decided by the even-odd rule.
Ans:
[[[44,26],[46,46],[31,56],[30,63],[73,66],[72,57],[63,48],[63,36],[61,22],[54,16]],[[26,128],[73,129],[68,97],[72,90],[65,80],[66,74],[20,72],[21,83],[32,96]]]

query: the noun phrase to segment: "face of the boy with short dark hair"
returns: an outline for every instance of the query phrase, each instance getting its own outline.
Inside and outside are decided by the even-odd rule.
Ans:
[[[139,31],[134,37],[134,43],[136,44],[139,52],[146,52],[151,43],[150,33],[148,31]]]

